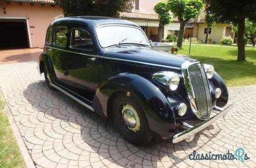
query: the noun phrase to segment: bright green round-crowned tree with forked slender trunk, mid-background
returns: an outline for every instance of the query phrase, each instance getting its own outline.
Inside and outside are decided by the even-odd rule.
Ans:
[[[182,47],[183,34],[186,23],[191,18],[196,17],[203,7],[201,0],[169,0],[168,6],[174,16],[177,16],[180,21],[180,32],[177,41],[177,46]]]

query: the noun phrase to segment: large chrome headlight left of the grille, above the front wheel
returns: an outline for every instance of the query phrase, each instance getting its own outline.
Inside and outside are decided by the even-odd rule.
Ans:
[[[176,90],[180,83],[179,75],[171,71],[161,71],[155,73],[152,76],[152,79],[164,87],[169,87],[171,90]]]

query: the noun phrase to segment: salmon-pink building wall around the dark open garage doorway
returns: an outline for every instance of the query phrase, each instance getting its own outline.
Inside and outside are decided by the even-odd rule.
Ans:
[[[63,15],[62,9],[59,6],[52,7],[49,4],[41,6],[41,4],[29,3],[19,5],[16,2],[7,4],[0,1],[1,9],[6,9],[6,14],[0,12],[0,17],[26,17],[28,18],[28,26],[30,32],[30,47],[43,47],[45,43],[46,30],[49,24],[54,20],[54,17]]]

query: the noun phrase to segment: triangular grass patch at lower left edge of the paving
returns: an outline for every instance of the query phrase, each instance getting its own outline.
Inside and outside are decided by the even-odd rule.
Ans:
[[[0,167],[26,167],[0,96]]]

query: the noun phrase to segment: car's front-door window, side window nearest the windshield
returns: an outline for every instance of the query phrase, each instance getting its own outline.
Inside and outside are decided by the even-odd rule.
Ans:
[[[72,29],[70,46],[73,49],[93,51],[91,35],[82,29]]]

